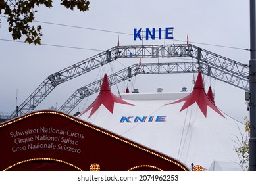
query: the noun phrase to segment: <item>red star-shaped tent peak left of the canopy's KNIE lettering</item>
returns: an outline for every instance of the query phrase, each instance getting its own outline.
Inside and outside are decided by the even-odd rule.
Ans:
[[[111,92],[111,89],[109,87],[109,80],[107,79],[107,74],[105,74],[102,85],[101,85],[101,91],[99,92],[97,99],[95,99],[95,101],[88,108],[86,108],[86,110],[84,110],[84,112],[82,112],[80,116],[91,109],[91,113],[88,117],[90,118],[99,109],[101,104],[103,104],[105,108],[109,110],[109,112],[113,113],[114,103],[133,105],[133,104],[127,103],[126,101],[122,100],[119,97],[116,97]]]

